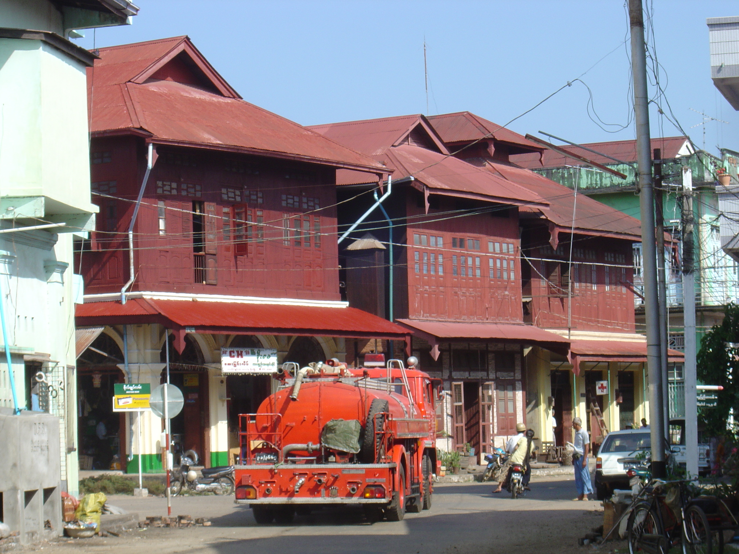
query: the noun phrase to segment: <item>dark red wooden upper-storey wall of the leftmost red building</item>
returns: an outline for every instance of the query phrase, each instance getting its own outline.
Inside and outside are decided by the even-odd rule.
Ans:
[[[132,137],[93,140],[91,151],[94,190],[115,198],[93,194],[98,232],[81,259],[89,294],[120,290],[129,277],[126,230],[146,163]],[[333,169],[159,152],[134,229],[132,290],[339,298]]]

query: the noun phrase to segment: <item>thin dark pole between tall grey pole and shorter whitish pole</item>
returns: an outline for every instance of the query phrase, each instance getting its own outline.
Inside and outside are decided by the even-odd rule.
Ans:
[[[662,190],[662,150],[654,149],[655,235],[657,238],[657,294],[659,303],[659,350],[662,371],[664,428],[670,425],[670,381],[667,373],[667,273],[664,262],[664,191]]]

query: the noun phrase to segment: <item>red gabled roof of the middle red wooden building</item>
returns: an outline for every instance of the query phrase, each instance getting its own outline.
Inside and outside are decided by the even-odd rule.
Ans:
[[[376,120],[347,121],[312,126],[342,144],[382,160],[393,171],[393,179],[412,175],[431,194],[502,202],[511,205],[534,205],[545,208],[548,202],[530,190],[501,179],[483,168],[449,156],[435,129],[423,115],[384,117]],[[423,132],[422,132],[423,131]],[[425,138],[427,147],[415,146]],[[356,171],[338,171],[339,185],[367,182]]]

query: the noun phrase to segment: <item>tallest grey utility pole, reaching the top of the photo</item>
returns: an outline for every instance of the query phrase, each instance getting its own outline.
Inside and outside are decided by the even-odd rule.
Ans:
[[[660,362],[657,252],[655,249],[654,191],[652,188],[652,145],[649,130],[647,55],[644,49],[644,12],[641,0],[629,0],[631,66],[636,119],[636,159],[641,208],[641,252],[644,264],[644,315],[647,320],[647,371],[649,372],[652,474],[666,476],[664,460],[664,399]]]

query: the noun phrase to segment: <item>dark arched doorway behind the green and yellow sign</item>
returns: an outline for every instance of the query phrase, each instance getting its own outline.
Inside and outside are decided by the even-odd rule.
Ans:
[[[118,343],[104,332],[77,359],[80,469],[123,468],[126,414],[113,411],[113,386],[126,382],[122,363]]]

